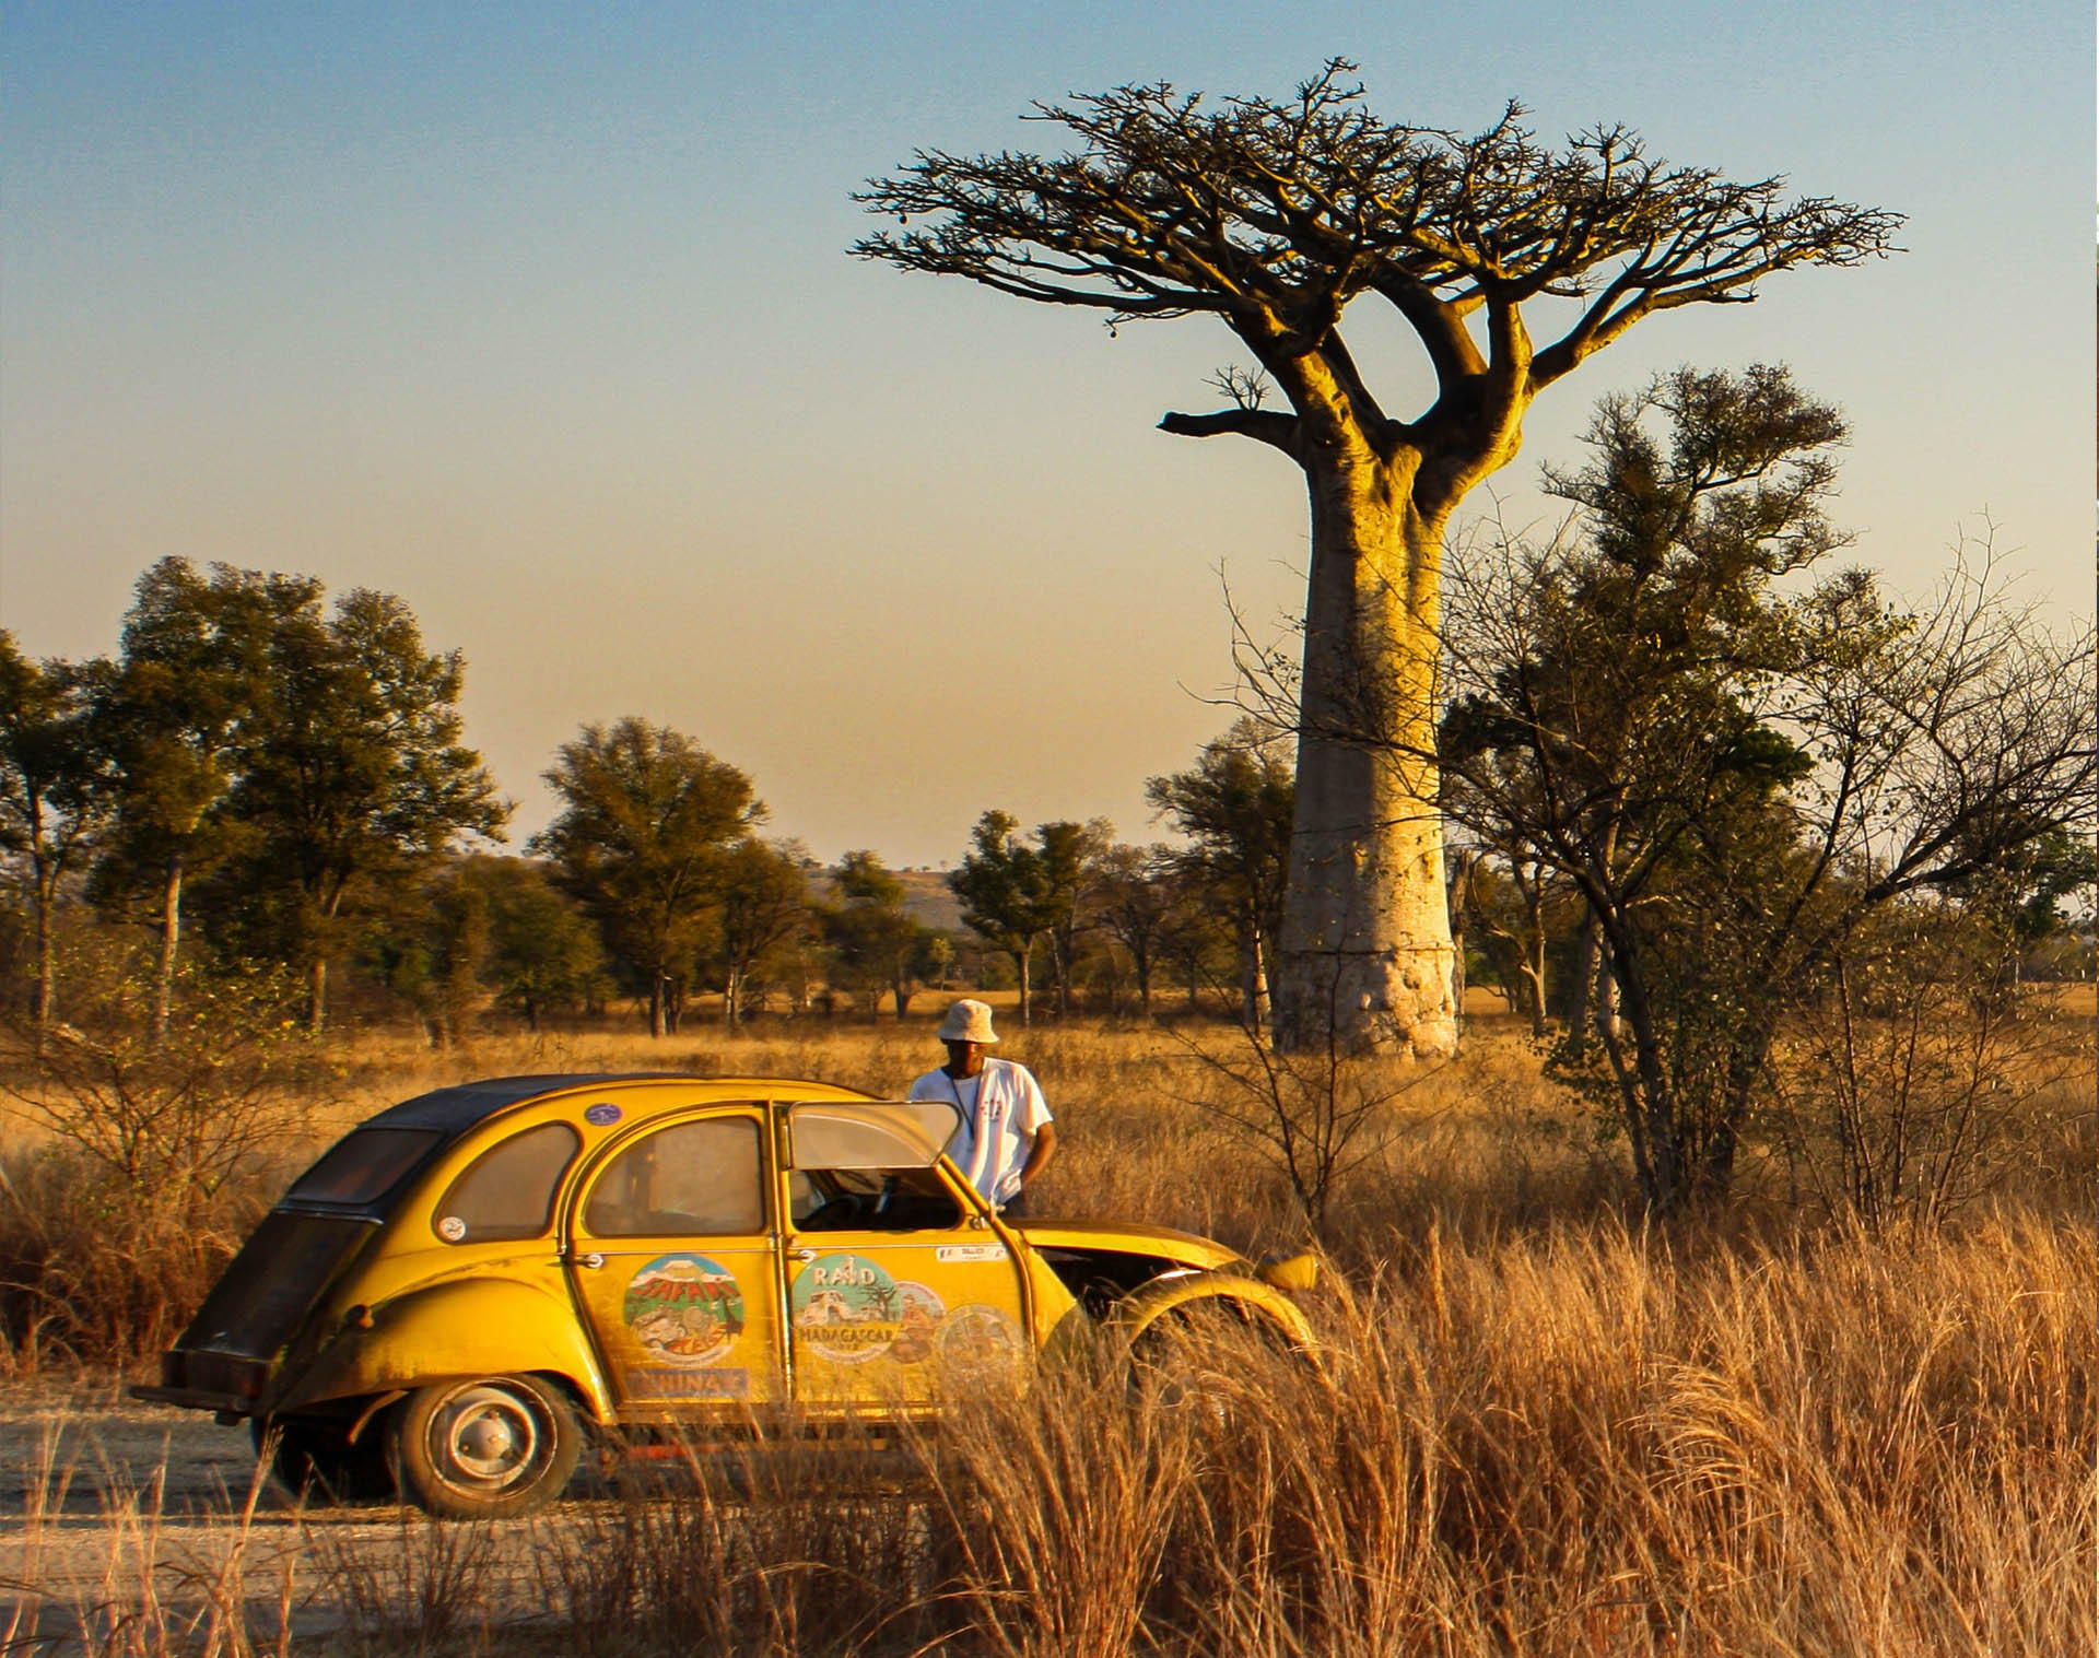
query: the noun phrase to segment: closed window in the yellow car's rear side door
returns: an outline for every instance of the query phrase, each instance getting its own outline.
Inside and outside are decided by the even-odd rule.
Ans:
[[[764,1232],[758,1121],[703,1117],[636,1140],[615,1156],[584,1205],[594,1238]]]

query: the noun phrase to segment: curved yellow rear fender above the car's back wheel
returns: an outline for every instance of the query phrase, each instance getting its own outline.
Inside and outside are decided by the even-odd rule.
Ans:
[[[351,1308],[338,1335],[285,1379],[269,1408],[283,1415],[428,1381],[527,1370],[567,1381],[596,1421],[613,1419],[605,1370],[565,1299],[504,1278],[455,1278]]]

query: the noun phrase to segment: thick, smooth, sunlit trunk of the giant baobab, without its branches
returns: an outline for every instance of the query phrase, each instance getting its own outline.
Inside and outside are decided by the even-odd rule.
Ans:
[[[1297,816],[1276,961],[1287,1049],[1457,1047],[1436,808],[1442,518],[1411,504],[1417,462],[1308,468],[1312,571]]]

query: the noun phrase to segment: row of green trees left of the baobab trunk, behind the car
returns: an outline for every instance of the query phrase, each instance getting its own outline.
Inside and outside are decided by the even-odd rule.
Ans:
[[[978,821],[949,875],[963,928],[915,917],[871,850],[821,867],[764,835],[747,772],[642,718],[588,724],[546,770],[523,856],[464,741],[458,651],[369,590],[164,558],[118,651],[31,659],[0,632],[0,951],[38,1045],[111,1007],[162,1037],[183,986],[269,974],[309,1033],[332,982],[449,1041],[495,1003],[533,1028],[630,1001],[653,1035],[720,997],[909,1012],[928,984],[1152,1012],[1173,976],[1266,1016],[1293,789],[1249,724],[1150,781],[1182,844],[1104,821]],[[71,980],[71,982],[69,982]],[[78,1003],[78,1005],[71,1005]]]

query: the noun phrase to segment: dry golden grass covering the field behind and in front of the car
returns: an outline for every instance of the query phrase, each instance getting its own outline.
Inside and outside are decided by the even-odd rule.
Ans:
[[[1184,1039],[1039,1028],[1008,1051],[1066,1129],[1047,1207],[1245,1249],[1301,1236],[1282,1182],[1203,1108]],[[921,1020],[443,1056],[363,1041],[332,1114],[506,1070],[888,1091],[934,1056]],[[502,1538],[416,1522],[353,1545],[313,1526],[296,1650],[2091,1652],[2086,1091],[2049,1102],[2034,1167],[1956,1228],[1803,1230],[1765,1196],[1725,1228],[1648,1232],[1528,1047],[1478,1030],[1402,1096],[1341,1194],[1339,1270],[1314,1297],[1322,1370],[1192,1352],[1209,1385],[1190,1408],[1102,1354],[909,1444],[903,1478],[840,1480],[835,1452],[800,1450]],[[147,1589],[149,1528],[149,1498],[120,1505],[111,1580]],[[216,1658],[281,1639],[275,1578],[246,1618],[222,1574],[199,1582],[191,1610],[160,1593],[92,1645]]]

